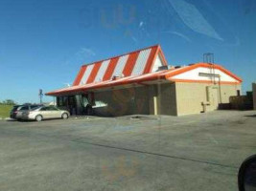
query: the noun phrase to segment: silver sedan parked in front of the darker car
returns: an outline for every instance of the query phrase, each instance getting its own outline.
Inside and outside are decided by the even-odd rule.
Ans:
[[[23,120],[36,120],[41,121],[42,119],[48,118],[68,118],[69,112],[66,110],[60,110],[55,106],[39,106],[33,110],[26,110],[22,112],[20,119]]]

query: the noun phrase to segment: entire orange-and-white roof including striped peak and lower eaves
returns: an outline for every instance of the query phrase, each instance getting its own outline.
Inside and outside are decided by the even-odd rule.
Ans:
[[[47,96],[83,94],[88,91],[125,87],[130,84],[145,85],[163,82],[219,83],[237,85],[242,79],[218,64],[196,63],[189,66],[158,71],[159,66],[167,65],[160,46],[112,57],[81,67],[72,87],[59,89]],[[206,74],[206,75],[200,75]],[[214,80],[211,75],[214,74]],[[114,75],[121,76],[113,78]]]

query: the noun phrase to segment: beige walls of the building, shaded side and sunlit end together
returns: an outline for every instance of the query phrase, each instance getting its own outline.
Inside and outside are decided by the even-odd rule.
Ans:
[[[168,115],[183,116],[218,109],[236,96],[240,85],[166,83],[95,93],[106,107],[94,109],[100,116]],[[203,103],[203,104],[202,104]]]

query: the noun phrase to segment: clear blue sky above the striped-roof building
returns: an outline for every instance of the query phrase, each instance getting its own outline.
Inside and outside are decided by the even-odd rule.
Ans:
[[[36,102],[81,64],[154,44],[171,65],[215,53],[245,92],[256,81],[255,33],[254,0],[1,0],[0,100]]]

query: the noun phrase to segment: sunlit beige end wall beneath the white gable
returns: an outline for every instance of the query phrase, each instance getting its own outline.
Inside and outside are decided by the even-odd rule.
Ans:
[[[202,83],[176,83],[177,116],[199,114],[218,109],[236,96],[240,85],[211,85]]]

